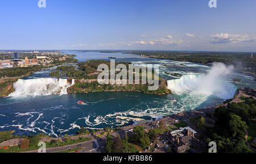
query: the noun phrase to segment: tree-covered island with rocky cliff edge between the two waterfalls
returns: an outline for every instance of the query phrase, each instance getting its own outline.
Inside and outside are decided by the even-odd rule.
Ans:
[[[81,93],[81,92],[97,92],[97,91],[138,91],[147,94],[170,94],[171,91],[167,89],[166,80],[159,78],[159,89],[150,91],[148,90],[147,84],[127,84],[127,85],[110,85],[110,84],[99,84],[97,82],[98,74],[100,73],[97,68],[100,64],[106,64],[110,68],[110,61],[105,60],[88,60],[86,62],[80,62],[78,68],[76,66],[59,66],[57,70],[50,74],[51,77],[67,77],[76,79],[75,85],[69,87],[68,93]],[[130,62],[115,62],[115,66],[118,64],[124,64],[128,68]],[[119,72],[115,72],[115,75]],[[141,72],[139,77],[142,77]],[[127,73],[128,76],[128,73]],[[134,74],[135,76],[135,74]],[[152,74],[154,77],[154,74]]]

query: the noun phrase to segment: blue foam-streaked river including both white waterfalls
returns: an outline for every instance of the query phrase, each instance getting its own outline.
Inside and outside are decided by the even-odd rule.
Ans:
[[[182,111],[212,107],[231,99],[239,87],[256,87],[249,75],[237,73],[232,66],[212,66],[192,62],[137,58],[134,54],[76,52],[79,62],[117,57],[133,65],[159,64],[159,77],[167,79],[168,95],[141,92],[92,92],[67,94],[73,84],[67,79],[51,78],[56,69],[43,69],[14,83],[15,91],[0,99],[0,131],[15,130],[28,135],[43,132],[57,137],[74,134],[80,127],[102,129],[131,125],[138,120],[151,120]],[[118,58],[127,57],[127,58]],[[176,77],[174,74],[180,74]],[[233,78],[241,79],[233,82]],[[171,99],[176,101],[172,102]],[[82,100],[85,104],[77,104]]]

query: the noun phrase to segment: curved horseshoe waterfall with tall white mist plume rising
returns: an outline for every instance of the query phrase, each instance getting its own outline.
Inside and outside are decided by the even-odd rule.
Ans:
[[[233,66],[226,66],[216,62],[213,63],[208,74],[183,75],[180,79],[167,81],[167,88],[174,94],[203,94],[205,96],[214,95],[221,99],[231,99],[237,87],[224,81],[224,78],[232,70]]]

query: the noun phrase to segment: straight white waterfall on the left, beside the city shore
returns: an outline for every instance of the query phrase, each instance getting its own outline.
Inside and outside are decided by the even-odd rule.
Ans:
[[[35,78],[19,79],[14,83],[15,91],[9,96],[63,95],[73,84],[68,79]]]

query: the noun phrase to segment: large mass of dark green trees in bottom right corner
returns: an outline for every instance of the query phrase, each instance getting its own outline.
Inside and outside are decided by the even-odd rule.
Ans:
[[[217,142],[218,152],[251,152],[245,143],[247,124],[255,117],[255,103],[253,98],[246,98],[245,102],[228,104],[219,107],[214,116],[218,118],[213,129],[209,129],[209,140]]]

